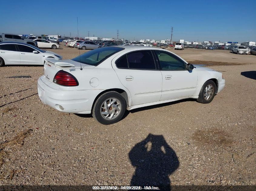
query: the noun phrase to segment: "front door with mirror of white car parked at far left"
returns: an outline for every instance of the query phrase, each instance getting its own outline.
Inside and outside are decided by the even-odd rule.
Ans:
[[[35,49],[26,45],[17,44],[17,46],[20,54],[21,64],[42,64],[42,56],[40,52],[37,51],[38,53],[33,53]]]

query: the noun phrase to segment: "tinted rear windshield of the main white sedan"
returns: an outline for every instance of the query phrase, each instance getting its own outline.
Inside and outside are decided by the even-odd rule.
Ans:
[[[94,50],[91,50],[89,52],[86,52],[80,56],[77,56],[71,60],[76,62],[81,62],[83,64],[93,65],[96,66],[103,62],[108,57],[112,56],[113,54],[123,50],[124,48],[120,47],[103,47],[103,48],[97,48]]]

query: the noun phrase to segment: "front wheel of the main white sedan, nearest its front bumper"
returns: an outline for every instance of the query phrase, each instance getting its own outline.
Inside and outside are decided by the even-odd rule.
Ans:
[[[215,94],[216,94],[217,86],[212,80],[208,80],[204,83],[201,88],[201,91],[198,95],[197,101],[199,103],[211,103]]]

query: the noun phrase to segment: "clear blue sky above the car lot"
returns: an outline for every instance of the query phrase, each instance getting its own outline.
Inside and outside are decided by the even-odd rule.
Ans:
[[[118,30],[119,39],[165,40],[173,27],[173,41],[256,41],[255,0],[12,0],[1,7],[1,33],[117,38]]]

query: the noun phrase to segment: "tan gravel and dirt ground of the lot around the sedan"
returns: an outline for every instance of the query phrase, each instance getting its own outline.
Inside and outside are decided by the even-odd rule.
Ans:
[[[221,71],[224,90],[210,104],[189,99],[131,110],[109,126],[43,105],[42,66],[0,68],[0,184],[256,185],[256,56],[170,50]],[[8,78],[18,75],[32,78]]]

